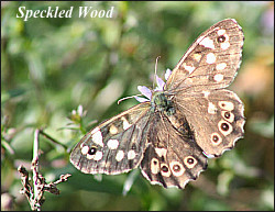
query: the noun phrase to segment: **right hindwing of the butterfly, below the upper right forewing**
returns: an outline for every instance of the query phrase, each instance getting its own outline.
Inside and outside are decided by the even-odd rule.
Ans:
[[[234,92],[219,89],[175,98],[207,155],[220,156],[243,136],[243,104]]]

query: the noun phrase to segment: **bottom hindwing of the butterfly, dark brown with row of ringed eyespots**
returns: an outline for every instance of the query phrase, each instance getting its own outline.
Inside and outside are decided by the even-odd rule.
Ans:
[[[179,118],[180,116],[180,118]],[[148,146],[141,161],[144,177],[163,187],[184,188],[207,168],[207,157],[194,140],[183,114],[178,114],[184,130],[176,130],[165,114],[154,115],[148,132]]]

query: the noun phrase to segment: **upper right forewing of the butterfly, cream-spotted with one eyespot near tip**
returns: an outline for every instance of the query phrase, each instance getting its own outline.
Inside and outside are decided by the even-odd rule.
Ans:
[[[167,90],[190,92],[228,87],[241,63],[243,40],[235,20],[215,24],[178,62],[167,80]]]

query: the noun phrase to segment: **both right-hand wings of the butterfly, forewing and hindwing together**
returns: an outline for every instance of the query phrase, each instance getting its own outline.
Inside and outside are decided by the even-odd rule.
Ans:
[[[235,20],[223,20],[189,47],[167,80],[167,92],[208,155],[220,156],[243,136],[243,103],[228,87],[241,64],[244,35]]]

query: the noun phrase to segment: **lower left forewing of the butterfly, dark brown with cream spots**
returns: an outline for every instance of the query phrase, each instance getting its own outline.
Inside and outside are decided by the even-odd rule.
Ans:
[[[148,107],[140,103],[92,129],[73,149],[72,164],[86,174],[116,175],[135,168],[146,146]]]

